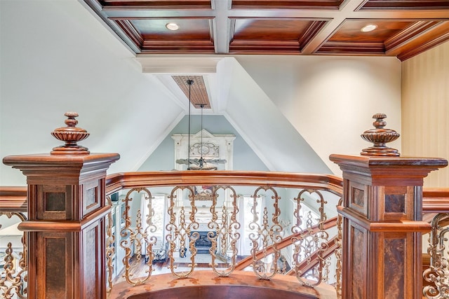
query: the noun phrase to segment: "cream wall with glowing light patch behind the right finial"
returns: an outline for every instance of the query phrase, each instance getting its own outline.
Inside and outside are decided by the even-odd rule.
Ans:
[[[337,176],[341,170],[329,155],[359,155],[372,146],[360,134],[373,129],[373,114],[387,114],[387,128],[401,132],[396,57],[242,55],[237,60]],[[400,140],[389,146],[401,151]]]

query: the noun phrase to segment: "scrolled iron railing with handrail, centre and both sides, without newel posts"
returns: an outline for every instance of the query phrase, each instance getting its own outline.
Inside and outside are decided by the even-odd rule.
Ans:
[[[170,256],[171,260],[173,260],[173,264],[170,263],[170,272],[173,271],[175,276],[189,276],[192,275],[194,271],[198,270],[199,268],[194,266],[199,254],[197,253],[198,249],[194,243],[197,236],[192,234],[193,231],[197,231],[194,228],[194,225],[196,225],[195,221],[190,221],[190,216],[193,215],[192,219],[199,217],[210,218],[210,221],[207,223],[208,232],[215,232],[213,235],[210,235],[210,261],[215,260],[213,267],[210,267],[210,269],[215,272],[215,275],[232,276],[232,272],[245,269],[252,271],[255,277],[262,278],[264,275],[265,278],[269,278],[274,272],[283,274],[299,273],[297,276],[300,283],[317,284],[319,281],[323,280],[334,284],[338,288],[340,284],[340,282],[337,281],[338,276],[333,278],[332,275],[326,275],[326,272],[329,271],[329,263],[326,262],[326,260],[328,259],[328,256],[330,256],[330,253],[335,254],[336,257],[332,260],[333,267],[334,269],[340,269],[341,253],[339,250],[335,249],[340,248],[339,242],[341,236],[339,237],[339,230],[332,230],[332,228],[337,225],[337,218],[328,216],[329,214],[333,215],[331,210],[333,209],[333,206],[335,206],[337,199],[340,197],[340,179],[333,176],[298,174],[288,174],[286,176],[286,174],[250,173],[250,175],[247,176],[248,180],[242,180],[242,174],[238,173],[237,177],[239,179],[237,183],[235,177],[229,179],[229,181],[234,182],[234,187],[231,187],[229,185],[223,185],[223,180],[225,180],[222,177],[223,174],[218,174],[215,178],[217,181],[213,178],[209,178],[207,181],[207,183],[210,184],[207,186],[214,186],[213,193],[215,192],[215,199],[212,193],[210,194],[210,198],[204,200],[205,198],[201,196],[199,198],[198,195],[195,194],[194,186],[204,186],[202,180],[197,181],[194,179],[197,174],[189,172],[188,174],[179,176],[180,173],[177,172],[176,175],[182,177],[177,183],[177,186],[167,186],[168,182],[173,183],[173,176],[175,176],[175,174],[169,172],[129,173],[108,177],[107,197],[115,197],[116,195],[113,194],[121,194],[121,198],[116,202],[111,201],[111,203],[114,206],[121,203],[121,208],[125,207],[123,213],[119,215],[119,218],[123,218],[123,216],[125,216],[125,218],[123,221],[119,221],[119,223],[123,223],[123,225],[120,226],[118,235],[116,233],[117,231],[113,232],[113,213],[110,213],[107,216],[107,269],[109,286],[112,286],[112,281],[125,280],[127,281],[126,284],[145,284],[150,279],[154,279],[154,274],[152,277],[153,261],[157,259],[155,253],[158,253],[160,249],[162,249],[161,242],[169,244],[167,247],[167,256]],[[226,174],[226,176],[228,176],[228,174]],[[283,176],[284,179],[281,179],[280,176]],[[288,179],[285,179],[287,177]],[[248,186],[245,186],[245,183],[248,182],[253,183],[254,186],[261,186],[253,186],[253,191],[249,192],[250,189],[248,189]],[[229,188],[223,188],[222,186],[228,186]],[[239,256],[239,250],[236,248],[236,244],[238,244],[238,241],[241,239],[241,235],[239,235],[239,239],[236,239],[232,234],[235,234],[237,232],[236,227],[242,224],[240,221],[237,221],[237,219],[239,219],[238,216],[234,217],[234,214],[238,215],[241,213],[241,211],[237,211],[239,205],[236,204],[236,202],[242,198],[239,197],[239,195],[241,196],[243,193],[238,192],[238,190],[241,190],[242,188],[245,188],[244,192],[242,191],[243,193],[250,194],[250,200],[253,201],[253,205],[254,198],[257,197],[264,197],[266,202],[269,203],[265,204],[264,207],[264,209],[267,209],[267,214],[255,214],[257,218],[261,217],[261,219],[268,222],[265,226],[260,225],[257,227],[256,233],[253,236],[255,242],[266,240],[267,246],[261,246],[260,250],[257,250],[258,247],[255,246],[257,249],[251,251],[249,256],[243,257],[241,260],[236,260],[234,257]],[[168,190],[170,190],[170,192],[168,192]],[[185,201],[184,198],[181,202],[175,197],[175,195],[180,194],[180,190],[183,191],[183,193],[181,193],[182,196],[187,196],[185,197],[188,198],[187,201]],[[275,192],[273,192],[273,190]],[[279,193],[282,193],[282,195],[286,194],[286,190],[295,190],[298,196],[293,196],[291,198],[279,196]],[[166,230],[167,232],[170,232],[170,234],[167,234],[165,238],[162,239],[162,237],[158,236],[159,239],[157,239],[157,237],[154,239],[152,238],[151,233],[152,230],[155,230],[154,226],[152,226],[154,225],[152,224],[154,219],[151,219],[150,214],[148,214],[147,217],[148,221],[144,221],[143,224],[142,222],[138,224],[138,218],[131,216],[130,211],[139,212],[140,209],[131,209],[131,207],[138,200],[144,200],[147,207],[152,207],[148,210],[152,211],[151,215],[154,215],[154,206],[152,205],[153,194],[161,194],[162,191],[168,194],[166,197],[167,208],[173,205],[171,214],[170,209],[167,209],[166,211],[170,221],[164,223],[165,227],[168,225],[172,230]],[[262,196],[261,192],[264,196]],[[267,193],[271,194],[267,195]],[[316,197],[318,198],[318,202],[314,200],[314,202],[307,203],[310,201],[310,197],[303,196],[306,194],[318,195],[318,197]],[[326,202],[326,200],[322,200],[319,194],[325,194],[328,203],[324,204],[323,214],[320,215],[320,220],[316,224],[311,222],[310,218],[307,218],[309,216],[306,216],[306,219],[304,219],[304,216],[299,216],[298,218],[298,214],[295,209],[293,209],[293,206],[291,209],[284,210],[282,209],[284,206],[279,204],[280,202],[288,202],[288,200],[290,200],[290,203],[292,204],[298,204],[299,202],[299,211],[301,210],[301,207],[308,207],[312,204],[319,204],[319,207],[321,207],[321,204]],[[197,195],[196,198],[194,198],[195,195]],[[228,196],[227,201],[225,200],[225,195]],[[298,198],[304,200],[298,201]],[[432,221],[432,230],[429,233],[428,246],[430,263],[428,267],[423,268],[423,294],[426,298],[446,298],[448,296],[448,199],[448,189],[424,190],[424,215],[427,215],[427,218],[430,219],[429,221]],[[203,203],[207,202],[207,213],[203,213],[204,209],[200,209],[200,212],[198,209],[192,209],[191,202],[196,204],[199,203],[201,208]],[[188,205],[186,203],[188,203]],[[225,205],[223,205],[223,203],[225,203]],[[278,207],[281,206],[281,211],[277,218],[271,213],[271,211],[276,211],[276,204]],[[0,188],[0,206],[0,216],[4,217],[3,219],[16,218],[18,221],[26,220],[26,188]],[[142,207],[142,204],[138,204],[138,206]],[[126,209],[126,207],[129,207],[129,209]],[[183,211],[184,214],[184,222],[181,221],[181,211]],[[253,215],[254,211],[255,209],[253,209],[250,214]],[[289,211],[289,213],[286,214],[286,211]],[[186,212],[188,217],[186,217]],[[140,211],[140,213],[142,212]],[[128,216],[126,216],[126,214],[128,214]],[[225,217],[219,217],[219,215],[225,215]],[[269,217],[269,215],[271,217]],[[311,213],[307,215],[311,215]],[[135,216],[137,216],[137,214]],[[173,216],[175,217],[175,221],[171,221]],[[126,221],[126,219],[128,219],[128,221]],[[135,222],[134,219],[136,219]],[[212,219],[215,220],[212,221]],[[229,221],[229,219],[231,219],[231,221]],[[211,228],[208,226],[209,223]],[[290,224],[286,225],[286,223]],[[300,223],[300,225],[298,225],[298,223]],[[306,223],[306,229],[301,229],[304,228],[304,223]],[[337,227],[340,225],[341,224],[339,223]],[[6,234],[9,233],[6,232]],[[17,232],[14,232],[14,234],[17,242]],[[325,236],[325,234],[328,234],[328,236]],[[275,238],[276,235],[283,235],[283,237],[278,241]],[[127,239],[127,242],[123,242],[123,244],[116,242],[116,240],[119,240],[122,236]],[[311,236],[311,239],[315,238],[315,243],[311,245],[311,242],[308,242],[309,249],[307,249],[307,246],[302,245],[306,242],[307,238],[310,239]],[[11,235],[0,236],[0,238],[5,240],[6,238],[11,238]],[[187,267],[187,270],[177,272],[180,269],[179,267],[176,269],[175,265],[178,264],[176,260],[180,260],[179,249],[182,238],[184,238],[184,244],[189,246],[186,253],[189,255],[189,263],[192,265]],[[21,242],[23,242],[23,245],[25,245],[21,248],[18,248],[17,244],[13,244],[13,242],[6,242],[6,244],[4,244],[4,253],[1,258],[3,265],[0,279],[1,298],[27,297],[27,241],[25,235],[23,238],[20,237],[20,239]],[[318,243],[316,243],[316,240],[319,240]],[[191,244],[192,248],[190,248]],[[425,244],[423,246],[424,248],[426,247]],[[121,260],[114,260],[114,256],[118,251],[125,252],[124,256]],[[222,253],[225,253],[226,256]],[[271,264],[273,267],[271,267],[271,265],[270,267],[266,267],[265,264],[260,262],[260,260],[267,260],[268,256],[275,256],[277,254],[280,258],[280,256],[285,256],[288,253],[290,253],[291,256],[295,255],[297,260],[288,260],[286,258],[285,263],[276,263],[276,265]],[[302,255],[302,253],[304,253],[304,255]],[[303,257],[302,260],[299,259],[300,257]],[[145,265],[147,270],[149,270],[146,277],[135,277],[136,273],[133,272],[134,268],[131,267],[131,265],[133,265],[138,258],[142,259],[140,261],[141,265]],[[185,259],[186,258],[182,258],[182,260]],[[280,259],[284,260],[283,258]],[[123,270],[121,273],[114,273],[114,270],[112,270],[112,268],[116,267],[114,263],[122,263]],[[223,269],[223,267],[219,267],[219,265],[225,265],[227,267]],[[290,270],[287,270],[288,267],[286,266],[290,267]],[[190,270],[192,270],[192,272]],[[121,279],[121,275],[124,275],[123,279]],[[307,279],[304,279],[304,276],[307,277]]]

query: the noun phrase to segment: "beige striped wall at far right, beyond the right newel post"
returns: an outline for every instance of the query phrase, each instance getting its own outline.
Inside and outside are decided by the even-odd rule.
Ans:
[[[402,63],[402,155],[449,159],[449,41]],[[424,187],[449,187],[449,167]]]

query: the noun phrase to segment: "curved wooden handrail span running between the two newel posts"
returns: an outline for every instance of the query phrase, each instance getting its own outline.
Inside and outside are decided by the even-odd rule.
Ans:
[[[106,194],[126,188],[149,186],[272,186],[281,188],[314,188],[342,195],[342,179],[330,174],[290,172],[244,172],[231,170],[186,170],[166,172],[122,172],[106,178]]]

